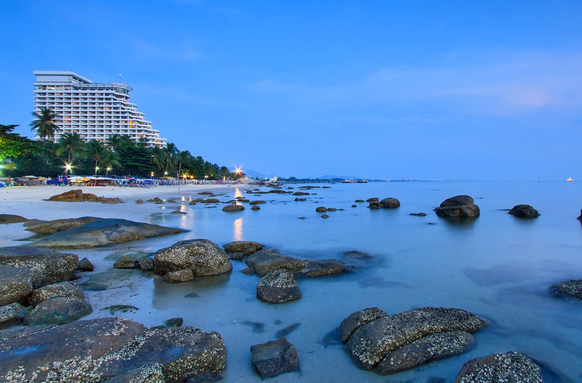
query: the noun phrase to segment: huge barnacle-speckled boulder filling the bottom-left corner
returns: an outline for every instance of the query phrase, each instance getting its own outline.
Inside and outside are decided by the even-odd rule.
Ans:
[[[139,323],[115,317],[24,334],[4,332],[0,353],[0,380],[16,381],[11,379],[17,376],[18,381],[30,383],[97,383],[156,364],[165,382],[178,383],[198,374],[218,373],[226,360],[226,347],[217,332],[194,327],[146,330]]]

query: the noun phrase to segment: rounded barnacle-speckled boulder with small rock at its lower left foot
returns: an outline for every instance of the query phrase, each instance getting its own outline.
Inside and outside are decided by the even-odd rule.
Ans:
[[[179,241],[155,252],[154,273],[165,275],[169,271],[191,269],[196,277],[217,275],[232,270],[226,252],[208,239]]]

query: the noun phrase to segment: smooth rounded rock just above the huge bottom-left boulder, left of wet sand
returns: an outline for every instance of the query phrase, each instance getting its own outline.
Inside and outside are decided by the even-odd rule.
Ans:
[[[43,324],[69,323],[93,312],[89,302],[73,296],[49,298],[39,303],[24,318],[24,324],[38,326]]]

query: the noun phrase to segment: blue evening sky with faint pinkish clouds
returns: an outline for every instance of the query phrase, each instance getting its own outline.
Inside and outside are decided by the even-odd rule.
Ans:
[[[230,169],[582,180],[580,15],[580,1],[2,1],[0,123],[31,137],[33,70],[73,70],[130,85],[162,137]]]

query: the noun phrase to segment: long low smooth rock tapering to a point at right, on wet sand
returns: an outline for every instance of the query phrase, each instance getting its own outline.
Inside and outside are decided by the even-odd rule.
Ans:
[[[56,232],[25,246],[88,249],[179,232],[184,230],[123,219],[100,218],[80,227]]]

